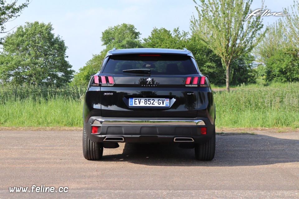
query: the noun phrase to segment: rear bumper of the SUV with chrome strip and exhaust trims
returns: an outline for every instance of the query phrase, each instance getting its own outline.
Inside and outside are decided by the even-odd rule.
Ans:
[[[202,143],[210,139],[214,129],[208,118],[91,117],[84,126],[93,142],[130,143]],[[93,126],[98,128],[97,133],[91,133]],[[201,134],[202,127],[206,127],[206,135]]]

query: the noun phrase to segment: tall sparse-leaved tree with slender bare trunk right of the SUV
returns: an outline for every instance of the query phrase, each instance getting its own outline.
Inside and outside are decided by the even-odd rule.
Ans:
[[[230,65],[241,55],[250,53],[263,38],[262,19],[258,16],[245,21],[252,0],[200,0],[200,4],[193,1],[197,4],[198,19],[192,16],[192,34],[221,57],[229,92]]]

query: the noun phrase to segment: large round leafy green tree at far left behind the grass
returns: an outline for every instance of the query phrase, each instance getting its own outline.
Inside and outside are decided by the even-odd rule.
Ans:
[[[0,57],[0,79],[11,84],[61,86],[73,77],[74,71],[59,35],[52,25],[26,22],[5,37]]]

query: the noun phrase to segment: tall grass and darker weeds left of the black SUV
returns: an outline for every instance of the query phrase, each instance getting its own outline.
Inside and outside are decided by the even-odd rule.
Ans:
[[[0,127],[82,127],[85,87],[0,88]]]

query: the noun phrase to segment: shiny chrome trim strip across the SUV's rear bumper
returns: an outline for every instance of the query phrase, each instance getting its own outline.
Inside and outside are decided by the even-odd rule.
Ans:
[[[96,119],[94,125],[206,125],[202,120],[138,120],[138,119]]]

